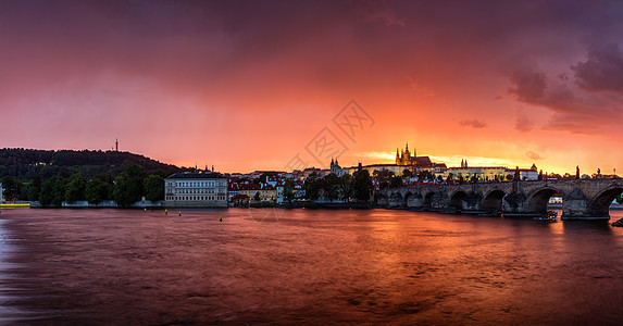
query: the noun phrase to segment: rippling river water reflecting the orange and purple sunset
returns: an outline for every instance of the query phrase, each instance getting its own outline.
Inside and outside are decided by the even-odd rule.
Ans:
[[[603,325],[623,316],[623,228],[607,223],[271,209],[0,218],[0,324]]]

